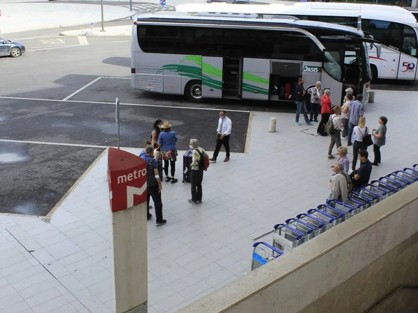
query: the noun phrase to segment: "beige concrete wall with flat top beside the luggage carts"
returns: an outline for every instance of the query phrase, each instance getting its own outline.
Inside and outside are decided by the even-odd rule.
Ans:
[[[417,217],[415,183],[178,312],[298,312],[416,234]]]

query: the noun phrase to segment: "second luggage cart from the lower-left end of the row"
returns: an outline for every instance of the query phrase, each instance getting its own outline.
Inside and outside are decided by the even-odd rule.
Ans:
[[[288,252],[304,243],[304,233],[287,224],[274,225],[273,247]]]

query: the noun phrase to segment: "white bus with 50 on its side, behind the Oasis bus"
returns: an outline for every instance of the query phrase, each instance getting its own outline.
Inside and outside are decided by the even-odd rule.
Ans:
[[[362,31],[371,33],[382,45],[369,50],[373,79],[407,79],[417,77],[417,21],[408,10],[397,6],[358,3],[304,2],[293,6],[254,4],[238,6],[229,3],[185,3],[176,7],[183,12],[256,13],[258,15],[291,15],[299,19],[344,24],[357,27],[359,15]]]

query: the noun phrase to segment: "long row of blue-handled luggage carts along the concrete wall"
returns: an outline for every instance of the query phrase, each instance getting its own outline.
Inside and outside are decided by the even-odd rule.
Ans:
[[[396,170],[361,188],[355,188],[348,194],[348,200],[328,200],[316,209],[309,209],[296,218],[289,218],[285,223],[274,225],[269,232],[256,236],[258,241],[269,234],[273,234],[272,244],[256,242],[253,245],[251,270],[277,259],[285,252],[300,246],[316,236],[343,223],[355,214],[368,209],[397,191],[418,181],[418,164],[412,168]]]

